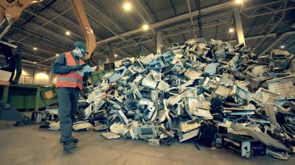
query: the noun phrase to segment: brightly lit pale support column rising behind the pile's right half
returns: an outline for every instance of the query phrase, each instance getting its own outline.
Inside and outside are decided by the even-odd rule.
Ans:
[[[241,21],[241,14],[240,14],[239,9],[234,9],[234,11],[233,11],[233,20],[234,20],[234,26],[235,26],[235,31],[236,31],[236,35],[237,35],[238,44],[244,43],[246,45],[245,38],[244,38],[242,21]]]

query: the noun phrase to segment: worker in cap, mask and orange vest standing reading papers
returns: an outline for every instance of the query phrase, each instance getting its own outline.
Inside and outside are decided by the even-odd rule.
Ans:
[[[86,72],[83,76],[76,72],[76,70],[83,69],[83,62],[80,58],[87,53],[86,45],[76,41],[74,48],[70,52],[59,55],[52,66],[52,71],[57,74],[60,142],[64,143],[66,151],[77,147],[78,139],[72,137],[72,126],[78,109],[78,97],[80,90],[82,90],[83,81],[86,81],[91,75],[91,72]]]

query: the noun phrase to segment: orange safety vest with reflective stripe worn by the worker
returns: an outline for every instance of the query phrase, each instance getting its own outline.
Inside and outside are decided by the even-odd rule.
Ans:
[[[66,64],[67,66],[75,66],[77,65],[76,60],[74,59],[71,53],[66,52]],[[82,65],[83,62],[79,59],[79,65]],[[82,90],[83,85],[83,77],[75,71],[71,71],[67,74],[57,74],[56,76],[56,88],[59,87],[69,87],[76,88],[78,87]]]

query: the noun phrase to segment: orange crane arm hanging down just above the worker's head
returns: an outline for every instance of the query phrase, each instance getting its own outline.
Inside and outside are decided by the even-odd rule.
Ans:
[[[85,14],[83,4],[81,0],[70,0],[71,5],[74,9],[75,14],[77,15],[80,27],[82,28],[82,32],[85,36],[86,40],[86,48],[88,55],[85,56],[85,60],[89,59],[92,52],[95,49],[96,46],[96,39],[95,35],[93,33],[93,30],[91,29],[87,16]]]

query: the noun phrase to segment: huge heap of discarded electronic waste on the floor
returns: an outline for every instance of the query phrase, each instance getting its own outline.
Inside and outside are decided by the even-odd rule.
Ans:
[[[202,38],[124,58],[84,88],[75,130],[107,130],[105,138],[155,146],[193,139],[245,158],[288,159],[295,152],[293,57],[280,50],[258,56],[244,44]]]

